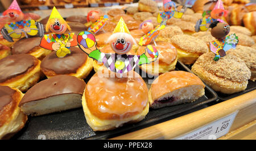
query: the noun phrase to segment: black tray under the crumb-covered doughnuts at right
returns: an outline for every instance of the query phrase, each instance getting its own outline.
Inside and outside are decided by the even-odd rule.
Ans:
[[[189,70],[189,72],[192,72],[191,67],[193,66],[193,64],[184,65],[184,66],[187,67],[187,70]],[[248,80],[248,84],[247,84],[246,89],[241,91],[241,92],[237,92],[237,93],[233,93],[233,94],[224,94],[224,93],[221,93],[221,92],[216,92],[216,93],[218,95],[218,100],[226,101],[226,100],[229,100],[231,98],[241,96],[242,94],[245,94],[245,93],[250,92],[251,90],[255,90],[255,89],[256,89],[256,81]]]

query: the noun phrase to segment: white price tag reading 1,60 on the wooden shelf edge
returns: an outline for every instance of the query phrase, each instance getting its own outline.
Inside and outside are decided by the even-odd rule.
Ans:
[[[237,113],[238,111],[225,118],[218,119],[207,126],[201,127],[196,131],[177,137],[176,140],[216,140],[229,132]]]

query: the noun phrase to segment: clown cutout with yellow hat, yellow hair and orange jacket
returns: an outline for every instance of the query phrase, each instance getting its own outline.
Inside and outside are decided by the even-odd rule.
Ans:
[[[71,31],[67,22],[61,17],[57,9],[53,7],[51,16],[49,16],[46,24],[46,32],[51,31],[54,34],[44,34],[40,46],[44,49],[56,51],[56,55],[59,58],[70,54],[69,48],[76,46],[77,41],[75,33],[65,33],[67,29]]]

